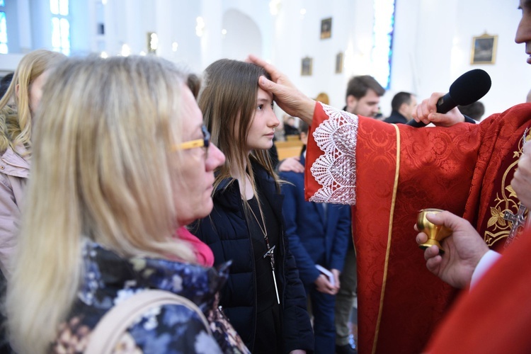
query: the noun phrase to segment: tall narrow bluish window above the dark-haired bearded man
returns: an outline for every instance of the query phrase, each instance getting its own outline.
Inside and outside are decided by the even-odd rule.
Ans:
[[[391,62],[393,56],[394,1],[374,0],[375,23],[372,31],[372,64],[375,79],[389,89],[391,83]]]

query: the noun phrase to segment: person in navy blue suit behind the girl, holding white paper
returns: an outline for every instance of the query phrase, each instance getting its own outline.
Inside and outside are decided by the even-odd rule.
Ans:
[[[299,126],[307,141],[308,125]],[[300,162],[304,165],[304,152]],[[339,290],[348,239],[352,238],[350,210],[346,205],[323,205],[304,200],[304,173],[281,172],[285,195],[283,215],[290,251],[312,303],[315,353],[334,353],[336,329],[334,308]],[[319,270],[319,265],[323,268]]]

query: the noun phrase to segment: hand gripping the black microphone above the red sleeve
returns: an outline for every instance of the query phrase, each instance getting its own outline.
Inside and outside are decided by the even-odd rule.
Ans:
[[[444,93],[432,93],[430,98],[422,101],[413,109],[413,119],[416,122],[425,124],[433,123],[438,127],[450,127],[456,123],[464,122],[464,115],[457,108],[449,110],[447,113],[437,113],[437,101],[445,96]]]

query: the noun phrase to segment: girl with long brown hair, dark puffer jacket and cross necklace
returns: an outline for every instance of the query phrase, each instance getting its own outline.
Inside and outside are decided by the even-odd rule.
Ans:
[[[226,161],[215,173],[214,209],[192,231],[215,265],[232,261],[220,304],[253,353],[304,353],[314,338],[304,287],[288,250],[282,200],[268,149],[279,121],[265,71],[221,59],[205,71],[199,105]]]

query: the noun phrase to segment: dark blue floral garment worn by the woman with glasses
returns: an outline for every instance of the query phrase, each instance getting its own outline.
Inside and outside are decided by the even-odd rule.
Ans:
[[[207,316],[212,335],[188,307],[153,307],[124,333],[114,353],[249,353],[217,308],[217,292],[229,263],[215,268],[158,258],[121,258],[86,241],[84,279],[67,321],[59,326],[53,353],[83,353],[90,333],[115,304],[147,289],[166,290],[193,301]]]

